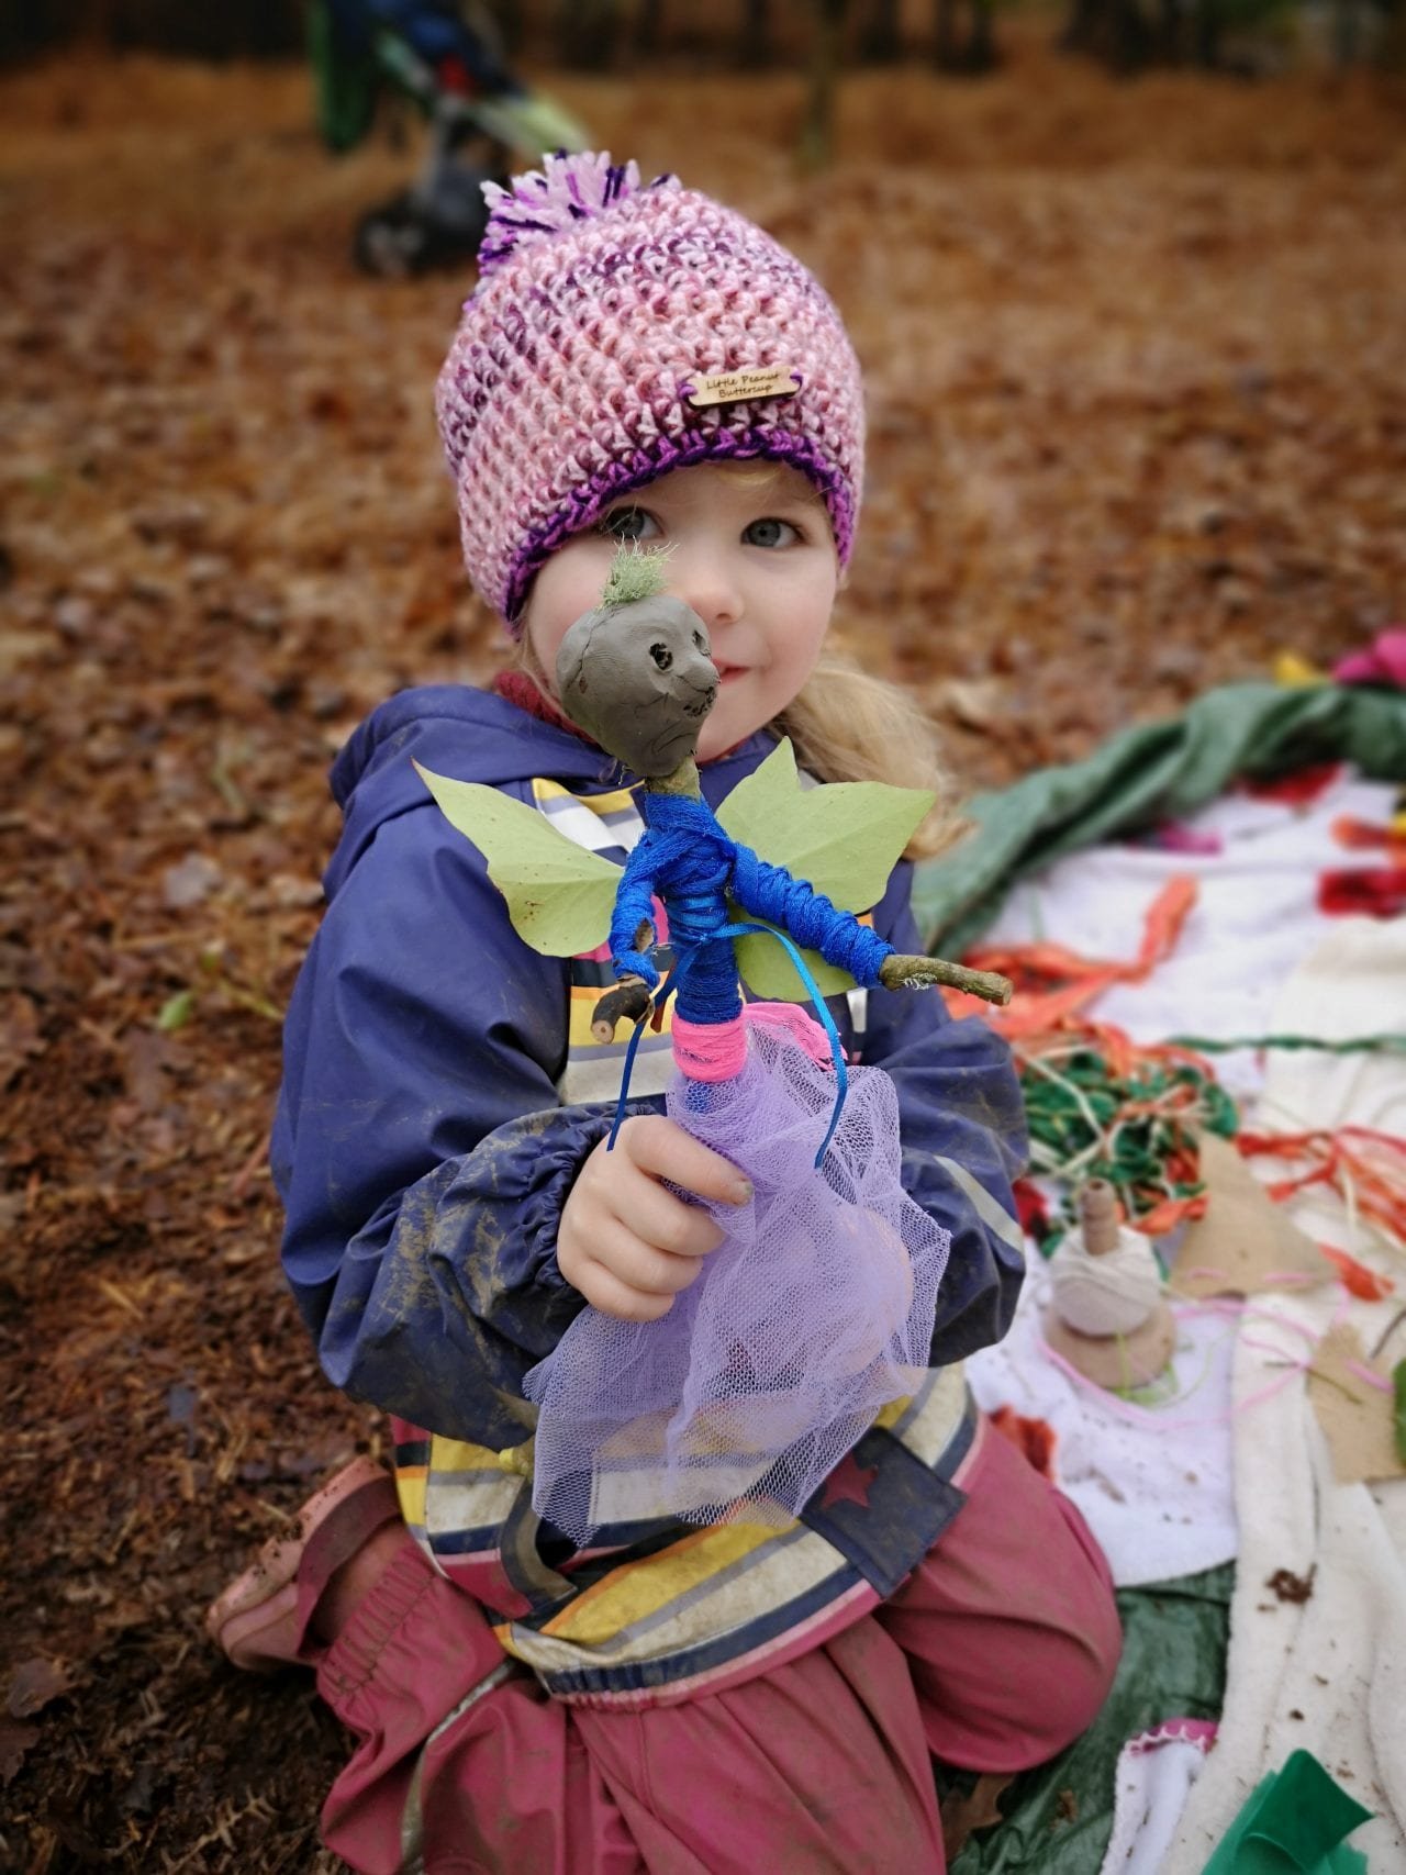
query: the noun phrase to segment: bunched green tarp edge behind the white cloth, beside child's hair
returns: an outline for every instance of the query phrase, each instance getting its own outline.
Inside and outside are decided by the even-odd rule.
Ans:
[[[1029,872],[1099,840],[1194,814],[1237,776],[1354,761],[1406,780],[1406,692],[1350,684],[1226,684],[1168,722],[1106,742],[1087,761],[1037,769],[969,802],[973,834],[919,864],[913,908],[930,949],[960,956]]]

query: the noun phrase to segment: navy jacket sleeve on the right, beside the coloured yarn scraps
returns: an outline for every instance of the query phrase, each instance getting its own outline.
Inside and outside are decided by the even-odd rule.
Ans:
[[[920,952],[900,866],[875,928]],[[1010,1050],[980,1016],[952,1022],[937,990],[870,990],[862,1059],[898,1086],[904,1189],[952,1232],[932,1361],[958,1361],[1010,1326],[1025,1258],[1010,1179],[1025,1162],[1025,1112]]]

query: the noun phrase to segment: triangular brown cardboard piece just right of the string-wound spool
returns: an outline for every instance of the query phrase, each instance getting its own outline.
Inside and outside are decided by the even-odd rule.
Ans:
[[[1230,1140],[1200,1136],[1205,1217],[1181,1239],[1172,1269],[1175,1296],[1205,1301],[1207,1296],[1297,1294],[1309,1282],[1275,1282],[1273,1277],[1307,1275],[1329,1282],[1337,1271],[1320,1256],[1288,1213],[1275,1204]]]

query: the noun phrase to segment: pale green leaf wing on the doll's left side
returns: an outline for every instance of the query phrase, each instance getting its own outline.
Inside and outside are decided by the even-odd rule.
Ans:
[[[482,782],[456,782],[416,761],[444,819],[478,848],[487,876],[508,900],[517,936],[544,956],[577,956],[611,928],[621,868],[589,853],[546,814]]]

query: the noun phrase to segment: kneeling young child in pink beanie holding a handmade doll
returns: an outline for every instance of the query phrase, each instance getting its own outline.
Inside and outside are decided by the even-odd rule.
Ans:
[[[859,366],[757,227],[634,165],[547,159],[499,193],[439,381],[469,574],[508,622],[493,692],[409,690],[337,758],[347,827],[289,1011],[274,1164],[289,1281],[328,1378],[392,1416],[210,1611],[240,1665],[307,1661],[358,1736],[324,1811],[352,1868],[506,1875],[941,1871],[930,1755],[1014,1772],[1108,1691],[1119,1628],[1078,1511],[975,1416],[962,1356],[1022,1279],[1005,1046],[934,992],[853,992],[898,1088],[904,1185],[950,1232],[932,1369],[797,1522],[532,1513],[523,1374],[587,1305],[662,1316],[720,1239],[679,1192],[739,1174],[662,1114],[667,1033],[606,1134],[606,956],[531,951],[412,758],[622,859],[641,821],[547,673],[619,540],[671,549],[722,682],[716,804],[791,735],[821,780],[926,786],[919,712],[823,662],[862,476]],[[720,375],[727,375],[720,382]],[[932,840],[915,851],[932,851]],[[919,951],[909,866],[874,924]]]

